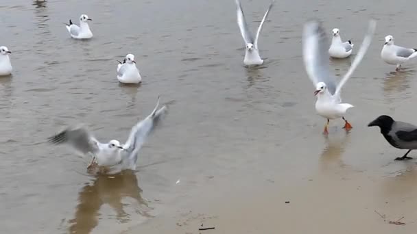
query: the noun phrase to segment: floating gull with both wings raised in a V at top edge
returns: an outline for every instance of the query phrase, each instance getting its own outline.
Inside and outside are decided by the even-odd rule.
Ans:
[[[242,34],[243,40],[246,44],[246,52],[245,58],[243,59],[243,64],[246,66],[254,66],[254,65],[261,65],[263,64],[263,60],[259,57],[259,48],[258,48],[258,39],[259,34],[261,33],[262,25],[265,23],[265,19],[270,13],[272,5],[274,5],[274,1],[272,1],[270,7],[265,12],[265,15],[262,18],[261,24],[258,27],[257,36],[253,39],[252,34],[248,29],[248,25],[246,24],[245,16],[243,15],[243,10],[240,5],[239,0],[235,0],[237,5],[237,25],[239,25],[240,32]]]

